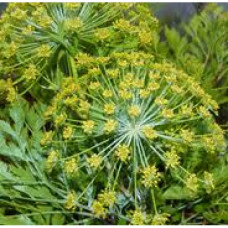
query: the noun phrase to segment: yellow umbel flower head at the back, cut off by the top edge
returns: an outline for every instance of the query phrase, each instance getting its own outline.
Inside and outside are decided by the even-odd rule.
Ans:
[[[87,58],[88,50],[90,54],[98,48],[109,52],[124,43],[144,48],[143,31],[151,37],[147,45],[152,45],[158,22],[145,9],[132,3],[10,3],[0,19],[1,71],[13,72],[29,84],[41,78],[40,83],[57,90],[55,80],[46,77],[56,70],[53,60],[58,69],[76,77],[73,58],[80,53],[77,63],[87,64],[93,61]]]

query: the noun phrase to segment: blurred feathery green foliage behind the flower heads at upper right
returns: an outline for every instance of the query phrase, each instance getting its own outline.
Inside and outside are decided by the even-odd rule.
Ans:
[[[195,77],[219,104],[228,102],[227,13],[208,4],[188,23],[184,31],[165,27],[167,57]]]

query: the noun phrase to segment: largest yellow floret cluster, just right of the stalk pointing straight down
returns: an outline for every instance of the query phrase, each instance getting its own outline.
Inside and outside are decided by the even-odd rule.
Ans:
[[[160,181],[161,173],[158,172],[155,165],[147,166],[142,171],[142,184],[146,188],[156,187]]]

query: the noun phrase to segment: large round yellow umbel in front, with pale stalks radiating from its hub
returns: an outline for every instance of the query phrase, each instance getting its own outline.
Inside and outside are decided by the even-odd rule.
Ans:
[[[200,153],[213,160],[218,151],[225,149],[223,131],[212,115],[217,110],[216,102],[184,72],[166,62],[156,63],[144,52],[114,52],[105,61],[100,59],[96,57],[83,68],[82,77],[88,78],[88,86],[82,83],[83,89],[65,93],[65,83],[57,95],[61,100],[54,98],[50,106],[55,106],[56,113],[68,110],[62,127],[71,126],[75,132],[75,144],[68,145],[70,152],[63,159],[72,161],[77,157],[78,172],[88,168],[91,181],[104,172],[108,187],[103,187],[110,188],[110,192],[129,189],[136,209],[135,224],[142,223],[144,214],[137,210],[140,198],[151,194],[155,201],[154,192],[166,186],[167,178],[181,183],[190,191],[189,197],[212,191],[215,186],[209,169],[202,165],[194,170],[191,159],[194,153]],[[91,75],[95,68],[98,70]],[[72,81],[74,85],[77,87]],[[72,106],[62,101],[74,97],[77,99]],[[54,119],[54,115],[48,117],[48,121]],[[59,133],[54,136],[58,137]],[[209,139],[210,145],[205,143]],[[70,149],[75,148],[73,145],[79,152]],[[100,193],[97,199],[91,211],[96,217],[104,217],[108,214],[105,198],[101,202]],[[165,216],[157,214],[148,223],[166,221]]]

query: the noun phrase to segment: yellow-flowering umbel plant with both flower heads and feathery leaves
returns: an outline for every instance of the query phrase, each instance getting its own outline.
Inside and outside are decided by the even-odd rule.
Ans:
[[[1,23],[0,224],[225,221],[218,105],[150,53],[145,6],[12,4]]]

